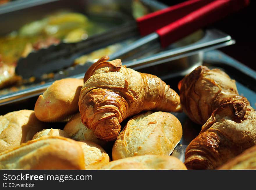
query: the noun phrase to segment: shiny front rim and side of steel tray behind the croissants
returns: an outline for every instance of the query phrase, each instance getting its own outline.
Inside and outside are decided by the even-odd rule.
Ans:
[[[206,33],[213,35],[214,31],[215,30],[211,30]],[[215,35],[220,34],[219,31],[215,32]],[[202,44],[209,42],[208,37],[209,36],[203,38],[207,39],[207,41],[202,40]],[[221,40],[220,43],[209,44],[209,46],[206,46],[205,48],[197,49],[196,47],[200,46],[200,43],[195,43],[195,46],[185,46],[185,49],[187,49],[187,51],[185,51],[186,53],[183,53],[181,55],[179,55],[180,49],[177,48],[177,50],[175,49],[175,51],[163,51],[158,54],[153,54],[149,57],[123,62],[122,64],[127,65],[127,67],[129,68],[134,68],[135,70],[138,70],[139,72],[143,73],[152,73],[152,71],[155,71],[157,73],[153,72],[152,74],[157,75],[162,79],[173,77],[176,75],[185,75],[191,72],[197,66],[202,65],[203,55],[205,51],[221,48],[223,46],[228,46],[235,43],[230,36],[225,34],[223,34],[220,38],[217,38],[216,41],[220,39],[223,39],[223,41]],[[35,84],[34,86],[28,87],[24,90],[9,93],[7,95],[1,95],[0,106],[10,104],[13,102],[19,102],[20,100],[28,99],[30,97],[38,96],[42,94],[46,90],[46,88],[49,87],[55,80],[61,78],[82,79],[84,77],[84,73],[86,72],[89,66],[90,65],[88,64],[79,66],[79,69],[77,69],[79,73],[74,72],[72,68],[70,68],[65,71],[65,75],[56,74],[53,81],[47,82],[45,84]]]

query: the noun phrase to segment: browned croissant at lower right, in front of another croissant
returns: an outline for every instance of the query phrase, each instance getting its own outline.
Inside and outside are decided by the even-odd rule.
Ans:
[[[256,144],[256,111],[246,100],[219,106],[186,148],[188,169],[216,169]]]

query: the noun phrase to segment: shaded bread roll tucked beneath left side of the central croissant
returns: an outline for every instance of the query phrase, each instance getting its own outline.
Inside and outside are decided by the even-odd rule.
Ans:
[[[83,125],[81,122],[81,116],[78,112],[75,114],[65,125],[63,131],[65,131],[70,138],[74,140],[89,140],[96,144],[99,144],[103,148],[106,147],[108,142],[99,140],[95,137],[92,130],[88,129],[86,126]]]

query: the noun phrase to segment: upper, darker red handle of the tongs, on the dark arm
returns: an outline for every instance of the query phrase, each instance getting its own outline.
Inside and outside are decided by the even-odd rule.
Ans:
[[[142,36],[148,35],[212,1],[214,0],[189,0],[137,18],[139,32]]]

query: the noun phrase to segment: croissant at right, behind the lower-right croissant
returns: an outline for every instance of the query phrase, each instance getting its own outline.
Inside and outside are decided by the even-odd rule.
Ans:
[[[246,99],[237,91],[235,80],[220,69],[199,66],[178,84],[182,108],[195,123],[203,125],[221,104],[233,99]],[[248,100],[247,106],[254,110]]]

